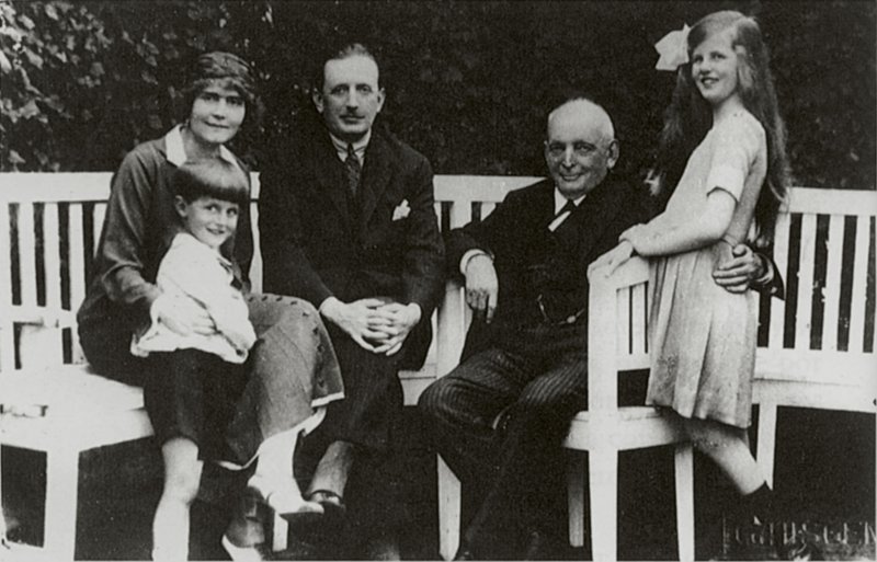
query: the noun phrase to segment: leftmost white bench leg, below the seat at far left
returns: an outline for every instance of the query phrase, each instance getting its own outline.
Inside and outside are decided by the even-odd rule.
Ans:
[[[79,450],[68,447],[46,451],[46,518],[44,549],[47,560],[73,560],[76,508],[79,493]]]

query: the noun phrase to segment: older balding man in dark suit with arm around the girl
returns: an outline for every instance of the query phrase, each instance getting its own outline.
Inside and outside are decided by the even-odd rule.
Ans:
[[[617,159],[610,116],[573,98],[548,116],[550,179],[447,239],[448,268],[465,276],[476,313],[460,365],[419,406],[464,491],[480,495],[458,559],[557,554],[546,526],[561,441],[588,403],[588,265],[650,215],[645,192],[611,174]],[[734,290],[763,273],[751,251],[737,251],[717,278]]]

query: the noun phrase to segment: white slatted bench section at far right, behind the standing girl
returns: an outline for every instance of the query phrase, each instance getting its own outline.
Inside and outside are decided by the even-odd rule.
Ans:
[[[770,300],[755,359],[758,459],[768,482],[778,408],[877,411],[875,216],[874,191],[794,190],[777,221],[774,259],[795,295]]]

